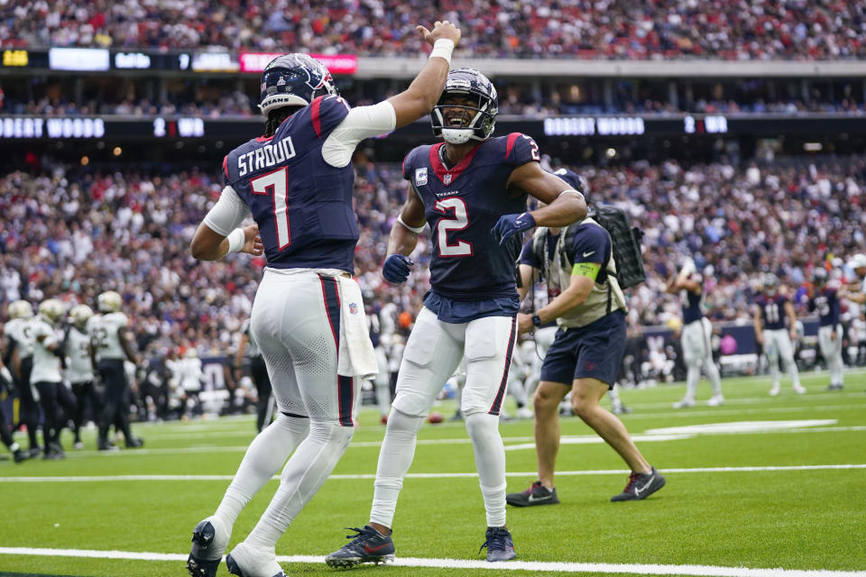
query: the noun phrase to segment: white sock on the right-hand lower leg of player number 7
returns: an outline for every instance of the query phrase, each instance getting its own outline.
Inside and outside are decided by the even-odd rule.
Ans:
[[[355,435],[355,428],[351,426],[311,422],[309,435],[282,470],[280,489],[244,543],[272,551],[294,518],[334,471],[352,435]]]

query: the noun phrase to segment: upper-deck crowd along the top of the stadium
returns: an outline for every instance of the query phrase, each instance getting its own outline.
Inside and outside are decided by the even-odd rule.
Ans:
[[[360,55],[416,55],[415,23],[442,14],[460,47],[493,58],[835,60],[866,56],[866,6],[856,0],[24,0],[0,6],[6,47],[112,46],[278,50],[335,46]]]

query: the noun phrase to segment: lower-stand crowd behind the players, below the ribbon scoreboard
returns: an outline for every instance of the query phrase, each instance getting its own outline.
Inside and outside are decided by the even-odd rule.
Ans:
[[[621,205],[646,234],[649,279],[631,294],[635,325],[663,325],[680,314],[665,281],[677,255],[705,270],[708,316],[748,322],[752,280],[772,271],[797,287],[809,270],[866,243],[861,184],[866,160],[803,164],[683,166],[645,161],[577,168],[589,199]],[[427,234],[410,281],[392,286],[380,267],[405,183],[399,165],[358,155],[355,209],[361,238],[356,274],[378,312],[389,305],[408,328],[428,287]],[[232,255],[195,261],[189,240],[222,182],[197,169],[172,174],[85,172],[60,165],[0,179],[0,301],[58,297],[92,305],[115,289],[134,322],[140,351],[173,347],[226,353],[252,306],[262,259]],[[182,199],[182,202],[179,201]]]

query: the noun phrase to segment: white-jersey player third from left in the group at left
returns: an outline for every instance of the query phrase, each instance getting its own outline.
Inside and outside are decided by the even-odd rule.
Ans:
[[[81,442],[81,426],[84,424],[84,416],[88,405],[94,420],[99,415],[101,403],[96,389],[93,386],[93,352],[91,351],[90,335],[88,334],[88,320],[93,316],[93,310],[87,305],[72,307],[69,311],[69,329],[64,339],[66,351],[66,379],[72,387],[75,395],[75,412],[72,415],[72,423],[75,426],[75,448],[83,449]]]

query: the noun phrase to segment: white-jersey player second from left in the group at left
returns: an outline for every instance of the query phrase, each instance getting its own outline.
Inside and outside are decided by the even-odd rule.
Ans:
[[[58,325],[63,317],[63,304],[56,298],[44,300],[39,305],[39,316],[32,321],[33,371],[30,379],[39,391],[42,407],[42,439],[45,444],[45,459],[62,459],[66,455],[60,446],[62,409],[69,413],[75,410],[75,399],[63,386],[60,375],[60,358],[64,352],[60,346]]]

